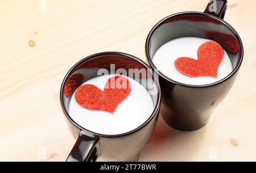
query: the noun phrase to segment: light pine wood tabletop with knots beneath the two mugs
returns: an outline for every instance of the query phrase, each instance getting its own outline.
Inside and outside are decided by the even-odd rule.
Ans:
[[[65,161],[75,142],[59,101],[69,68],[108,50],[146,60],[156,22],[207,3],[0,0],[0,161]],[[245,48],[236,83],[200,130],[180,132],[159,118],[140,161],[256,161],[255,18],[256,1],[229,1],[225,20]]]

